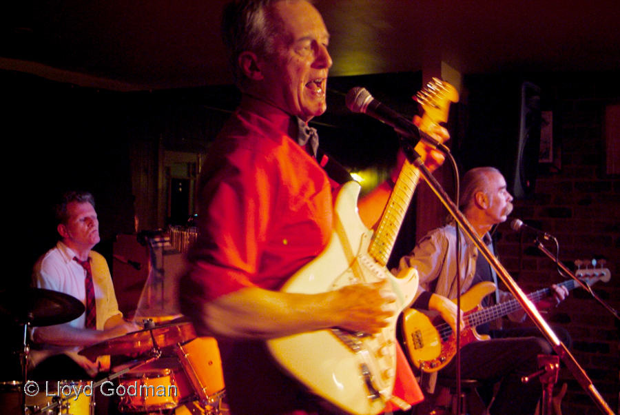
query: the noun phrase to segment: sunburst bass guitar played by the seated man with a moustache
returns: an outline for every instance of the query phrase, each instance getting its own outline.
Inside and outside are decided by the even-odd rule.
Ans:
[[[588,286],[597,281],[606,283],[610,279],[610,271],[607,268],[577,270],[575,275]],[[580,286],[573,279],[557,285],[563,285],[569,291]],[[461,328],[461,347],[473,341],[488,340],[489,336],[476,332],[477,325],[521,310],[521,303],[516,299],[492,307],[481,307],[479,303],[482,298],[492,292],[495,292],[495,284],[487,281],[474,285],[461,296],[461,309],[465,321],[465,326]],[[551,288],[545,288],[530,293],[527,297],[533,303],[538,303],[551,294]],[[453,302],[456,303],[456,300]],[[422,372],[437,372],[450,363],[457,352],[456,336],[452,328],[435,312],[420,312],[411,308],[406,310],[402,314],[402,334],[409,361]]]

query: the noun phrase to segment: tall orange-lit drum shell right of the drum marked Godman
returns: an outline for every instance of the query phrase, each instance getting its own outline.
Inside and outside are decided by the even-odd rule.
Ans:
[[[219,404],[224,396],[224,373],[218,342],[213,337],[198,337],[176,347],[189,382],[205,405]]]

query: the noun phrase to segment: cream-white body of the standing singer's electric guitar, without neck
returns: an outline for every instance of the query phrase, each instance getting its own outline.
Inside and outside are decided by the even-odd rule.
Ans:
[[[417,272],[395,279],[368,255],[372,231],[357,214],[360,185],[342,186],[335,201],[334,227],[324,252],[291,277],[283,292],[316,294],[355,283],[389,279],[399,312],[413,300]],[[355,337],[320,330],[267,341],[273,358],[314,394],[355,415],[382,412],[391,398],[396,365],[397,314],[378,336]]]

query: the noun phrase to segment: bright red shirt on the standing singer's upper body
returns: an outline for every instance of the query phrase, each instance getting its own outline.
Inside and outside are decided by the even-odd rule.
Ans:
[[[192,279],[206,300],[243,287],[279,290],[329,241],[327,174],[289,137],[291,116],[250,97],[200,173]]]

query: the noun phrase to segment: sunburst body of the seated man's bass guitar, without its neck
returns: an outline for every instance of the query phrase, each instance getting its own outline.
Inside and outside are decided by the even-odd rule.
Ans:
[[[480,302],[495,291],[495,284],[479,283],[461,296],[461,310],[464,320],[468,315],[481,310]],[[456,299],[453,300],[456,303]],[[402,338],[409,352],[409,360],[422,372],[437,372],[452,360],[457,352],[456,336],[447,323],[435,312],[425,314],[408,309],[402,313]],[[488,336],[479,335],[473,325],[466,325],[461,330],[461,347],[473,341],[488,340]]]

